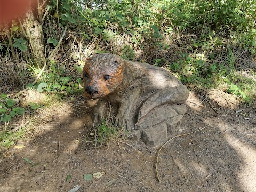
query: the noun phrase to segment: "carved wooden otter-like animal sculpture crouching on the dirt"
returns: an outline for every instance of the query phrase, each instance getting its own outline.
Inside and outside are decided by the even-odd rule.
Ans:
[[[137,133],[148,145],[163,143],[171,125],[186,113],[182,103],[188,98],[187,88],[160,67],[97,54],[86,59],[83,81],[86,97],[99,99],[94,122],[111,106],[115,123]]]

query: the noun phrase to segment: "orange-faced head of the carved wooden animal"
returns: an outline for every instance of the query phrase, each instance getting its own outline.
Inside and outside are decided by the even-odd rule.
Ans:
[[[84,94],[89,99],[106,97],[123,82],[124,60],[114,54],[86,58],[83,68]]]

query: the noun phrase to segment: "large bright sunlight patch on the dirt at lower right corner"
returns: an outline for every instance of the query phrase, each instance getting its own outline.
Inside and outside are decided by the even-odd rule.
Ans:
[[[256,149],[230,134],[225,134],[226,141],[232,146],[242,157],[244,163],[241,165],[241,171],[238,173],[239,180],[246,186],[247,191],[255,191],[256,189]]]

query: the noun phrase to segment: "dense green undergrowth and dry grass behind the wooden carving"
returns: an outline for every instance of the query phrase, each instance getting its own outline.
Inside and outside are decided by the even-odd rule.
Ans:
[[[31,49],[32,39],[27,37],[21,19],[1,27],[2,135],[6,135],[11,111],[21,107],[22,98],[19,96],[8,107],[4,104],[7,99],[17,97],[6,98],[5,94],[28,87],[49,97],[54,94],[74,99],[82,94],[82,59],[97,53],[114,53],[169,68],[190,90],[218,89],[249,104],[255,99],[253,0],[53,0],[39,9],[34,14],[43,29],[42,62],[33,59],[36,53]],[[43,74],[31,84],[43,68],[43,61]],[[31,107],[25,107],[25,112],[34,110]],[[21,115],[18,111],[14,116]],[[11,127],[7,129],[12,131]],[[5,143],[6,138],[1,136],[0,141]]]

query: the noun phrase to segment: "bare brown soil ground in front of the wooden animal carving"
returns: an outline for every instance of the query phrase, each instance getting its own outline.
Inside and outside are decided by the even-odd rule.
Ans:
[[[198,105],[199,104],[199,105]],[[190,93],[187,114],[172,127],[176,137],[161,150],[141,141],[83,145],[84,107],[49,122],[49,129],[12,148],[0,167],[0,191],[256,191],[255,104],[240,106],[233,95]],[[60,144],[59,153],[58,146]],[[22,157],[39,162],[31,166]],[[84,174],[105,172],[97,179]],[[71,178],[66,181],[67,175]],[[113,180],[115,179],[115,180]],[[109,182],[110,181],[110,182]],[[111,184],[111,185],[110,185]]]

